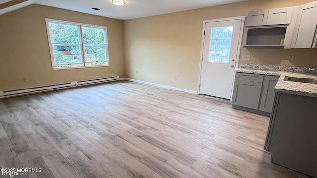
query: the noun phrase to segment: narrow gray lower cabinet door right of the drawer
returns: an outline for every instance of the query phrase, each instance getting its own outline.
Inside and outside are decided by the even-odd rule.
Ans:
[[[275,97],[275,85],[278,81],[278,76],[265,76],[264,85],[262,90],[262,96],[260,101],[260,111],[272,112],[274,97]]]

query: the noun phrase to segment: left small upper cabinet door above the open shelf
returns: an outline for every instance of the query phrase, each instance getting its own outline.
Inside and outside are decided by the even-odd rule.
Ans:
[[[247,27],[266,25],[268,10],[248,12]]]

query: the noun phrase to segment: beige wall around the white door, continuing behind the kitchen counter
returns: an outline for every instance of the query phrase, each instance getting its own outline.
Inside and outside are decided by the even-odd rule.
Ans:
[[[248,11],[311,1],[314,0],[251,0],[124,21],[125,75],[196,90],[203,20],[247,16]],[[251,54],[248,63],[253,64],[317,67],[316,49],[242,48],[242,54]],[[294,63],[288,61],[289,55],[295,55]],[[178,80],[174,79],[176,75]]]

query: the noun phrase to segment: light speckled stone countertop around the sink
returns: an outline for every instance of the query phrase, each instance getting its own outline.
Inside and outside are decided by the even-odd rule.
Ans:
[[[238,69],[235,69],[235,71],[250,73],[250,74],[280,76],[274,91],[317,98],[317,84],[284,81],[285,76],[310,78],[310,79],[317,80],[316,73],[297,73],[297,72],[288,72],[288,71],[276,71],[276,70],[265,70],[265,69],[259,70],[259,69],[249,69],[249,68],[238,68]]]

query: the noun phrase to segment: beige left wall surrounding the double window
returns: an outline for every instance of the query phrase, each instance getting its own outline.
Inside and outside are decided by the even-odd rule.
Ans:
[[[106,26],[110,66],[52,70],[45,18]],[[115,75],[124,77],[123,41],[121,20],[41,5],[1,15],[0,91]],[[21,77],[27,82],[22,83]]]

